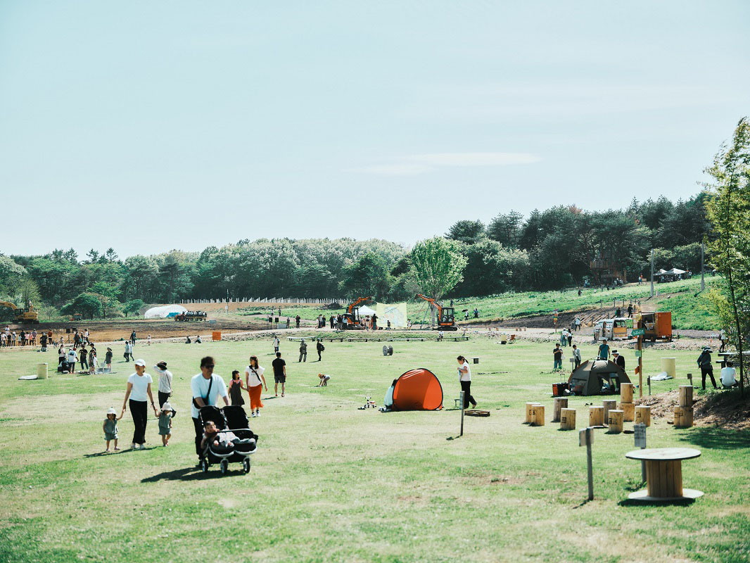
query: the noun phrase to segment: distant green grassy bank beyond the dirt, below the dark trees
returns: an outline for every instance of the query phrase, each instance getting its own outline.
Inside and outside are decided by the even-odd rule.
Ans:
[[[718,278],[706,278],[706,287],[718,281]],[[657,284],[655,290],[659,294],[677,294],[670,299],[656,299],[658,310],[673,311],[673,323],[678,329],[702,329],[717,330],[717,321],[711,309],[706,293],[700,293],[700,277],[673,281],[670,283]],[[480,321],[502,321],[505,319],[532,317],[535,315],[550,315],[555,309],[559,312],[580,311],[600,306],[612,306],[613,300],[625,303],[628,301],[646,300],[650,296],[651,286],[649,284],[628,285],[610,291],[601,291],[601,288],[585,289],[578,297],[577,289],[567,291],[523,291],[493,295],[490,297],[467,297],[454,301],[457,312],[457,320],[461,309],[479,309]],[[445,300],[446,304],[448,300]],[[425,319],[425,302],[422,300],[407,303],[409,318],[419,323]],[[653,309],[650,309],[653,310]],[[248,307],[240,310],[241,315],[257,315],[266,313],[268,307]],[[293,307],[285,309],[282,307],[284,318],[294,318],[299,315],[303,319],[313,320],[323,313],[329,317],[330,309],[318,309],[315,306]],[[462,318],[462,317],[461,317]],[[429,321],[429,315],[426,317]],[[469,321],[475,322],[473,318]],[[551,324],[550,324],[551,326]]]

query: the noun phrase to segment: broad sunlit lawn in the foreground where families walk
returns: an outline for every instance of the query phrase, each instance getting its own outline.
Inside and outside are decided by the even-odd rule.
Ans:
[[[287,360],[296,345],[283,342]],[[291,361],[287,396],[264,393],[251,427],[260,434],[250,474],[194,467],[189,379],[212,354],[228,378],[251,353],[269,366],[270,342],[136,348],[148,366],[166,360],[178,409],[169,447],[149,422],[148,450],[105,455],[101,431],[119,408],[131,365],[117,373],[17,381],[42,359],[0,354],[0,561],[750,561],[750,433],[678,430],[654,420],[649,447],[697,447],[685,486],[693,504],[640,506],[640,465],[625,459],[632,435],[595,431],[595,500],[586,498],[586,456],[577,432],[521,424],[523,403],[551,410],[550,344],[469,342],[326,343],[323,363]],[[457,354],[472,365],[472,393],[488,418],[467,418],[457,438]],[[594,353],[583,346],[583,356]],[[312,355],[312,354],[311,354]],[[628,366],[634,365],[626,351]],[[646,373],[661,352],[646,352]],[[677,372],[694,351],[670,351]],[[296,360],[296,357],[294,357]],[[359,411],[380,405],[390,382],[414,367],[443,384],[443,411]],[[317,373],[332,375],[314,388]],[[272,377],[271,377],[272,379]],[[655,383],[654,393],[682,381]],[[272,395],[272,393],[270,393]],[[587,420],[584,403],[578,427]],[[547,416],[550,420],[550,416]],[[625,424],[626,428],[631,426]],[[130,442],[130,415],[121,445]],[[453,438],[453,439],[451,439]]]

